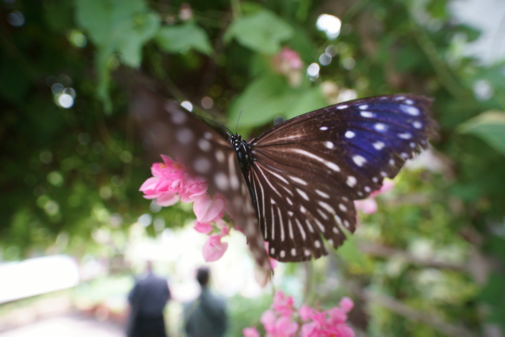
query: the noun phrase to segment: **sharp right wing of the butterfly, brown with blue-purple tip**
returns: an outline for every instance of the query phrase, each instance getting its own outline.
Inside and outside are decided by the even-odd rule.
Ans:
[[[431,100],[402,94],[337,104],[278,124],[250,142],[250,182],[269,254],[304,261],[354,232],[354,200],[392,178],[434,134]]]

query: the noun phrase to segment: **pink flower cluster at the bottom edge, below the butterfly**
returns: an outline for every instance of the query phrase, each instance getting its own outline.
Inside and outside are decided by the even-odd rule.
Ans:
[[[354,331],[346,324],[347,313],[352,307],[354,303],[348,297],[344,297],[339,306],[325,311],[318,311],[304,304],[297,311],[302,322],[300,327],[300,324],[295,322],[293,298],[278,291],[270,309],[261,316],[260,322],[267,332],[265,337],[354,337]],[[255,327],[244,328],[242,333],[244,337],[260,337]]]

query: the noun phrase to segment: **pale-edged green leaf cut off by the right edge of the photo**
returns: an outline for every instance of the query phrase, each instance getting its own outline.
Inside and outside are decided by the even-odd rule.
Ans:
[[[475,134],[496,151],[505,155],[505,112],[483,112],[460,124],[457,130],[461,133]]]

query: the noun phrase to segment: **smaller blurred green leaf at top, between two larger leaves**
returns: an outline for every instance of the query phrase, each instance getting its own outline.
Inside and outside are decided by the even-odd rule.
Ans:
[[[206,55],[213,52],[205,30],[192,23],[163,27],[156,36],[156,41],[168,53],[181,53],[189,49]]]

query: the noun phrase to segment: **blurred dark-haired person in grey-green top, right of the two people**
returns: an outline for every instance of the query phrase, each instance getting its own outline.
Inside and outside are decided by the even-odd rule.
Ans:
[[[201,293],[184,310],[188,337],[222,337],[226,331],[226,304],[209,290],[209,277],[209,268],[198,268],[196,279]]]

